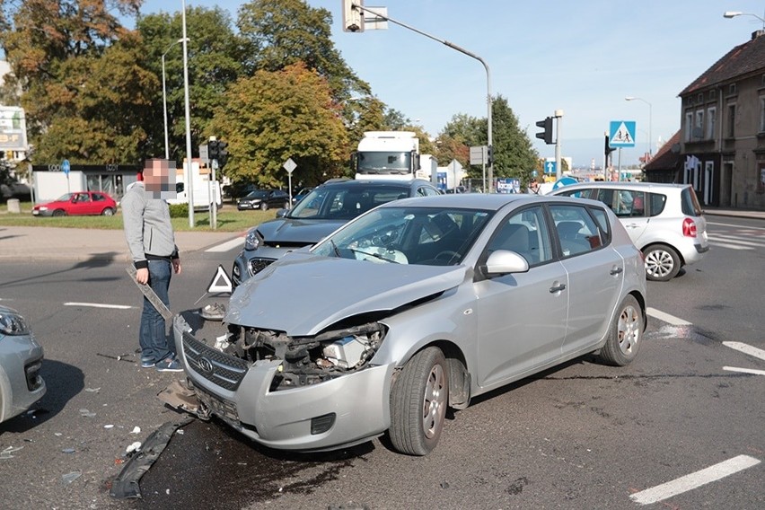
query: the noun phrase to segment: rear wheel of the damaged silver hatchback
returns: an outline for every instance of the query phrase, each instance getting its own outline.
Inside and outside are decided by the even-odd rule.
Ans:
[[[606,343],[598,357],[605,365],[629,365],[643,343],[643,310],[634,296],[624,298],[608,327]]]

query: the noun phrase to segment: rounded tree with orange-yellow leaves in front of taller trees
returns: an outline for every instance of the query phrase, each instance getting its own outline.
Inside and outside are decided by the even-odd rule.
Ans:
[[[292,158],[293,180],[312,185],[343,174],[349,145],[340,110],[327,80],[297,63],[240,78],[209,128],[228,141],[233,180],[283,186],[282,165]]]

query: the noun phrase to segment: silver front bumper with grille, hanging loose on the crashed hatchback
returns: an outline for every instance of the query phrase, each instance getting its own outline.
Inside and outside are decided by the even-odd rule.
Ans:
[[[173,335],[199,400],[259,444],[302,452],[333,450],[373,439],[390,427],[393,365],[271,391],[280,361],[251,364],[224,354],[194,338],[180,315],[173,321]]]

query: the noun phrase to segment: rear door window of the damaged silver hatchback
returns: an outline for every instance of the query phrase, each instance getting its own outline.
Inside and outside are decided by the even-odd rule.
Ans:
[[[550,206],[564,257],[594,251],[603,245],[601,229],[586,207]]]

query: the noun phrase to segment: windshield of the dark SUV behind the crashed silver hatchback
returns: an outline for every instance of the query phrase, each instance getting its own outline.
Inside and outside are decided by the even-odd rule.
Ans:
[[[409,197],[409,186],[320,186],[306,195],[287,217],[350,220],[386,202]]]

